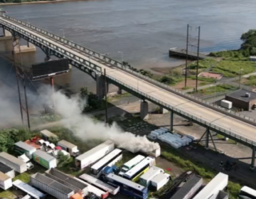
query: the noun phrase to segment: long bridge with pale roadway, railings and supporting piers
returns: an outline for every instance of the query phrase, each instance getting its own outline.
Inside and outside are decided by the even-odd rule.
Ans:
[[[228,112],[202,99],[161,84],[130,70],[117,60],[49,33],[31,25],[31,23],[3,15],[0,17],[0,24],[4,28],[4,32],[11,33],[14,41],[23,38],[28,43],[41,48],[46,53],[47,58],[50,58],[51,55],[58,58],[68,58],[71,65],[92,75],[97,82],[97,94],[99,96],[103,96],[102,87],[104,87],[103,80],[106,75],[108,82],[142,99],[142,118],[148,114],[148,104],[145,100],[158,104],[170,111],[171,130],[173,130],[173,116],[178,114],[191,122],[206,127],[206,148],[208,148],[209,139],[212,139],[210,131],[215,131],[251,147],[251,166],[255,166],[256,121],[254,119],[235,112]],[[27,47],[30,48],[29,45]],[[26,48],[23,49],[26,50]],[[106,71],[105,75],[104,70]]]

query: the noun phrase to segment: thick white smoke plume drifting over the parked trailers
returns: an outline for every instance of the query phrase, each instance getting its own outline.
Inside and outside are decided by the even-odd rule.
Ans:
[[[51,90],[45,89],[50,96]],[[48,98],[49,99],[49,98]],[[54,94],[55,110],[63,116],[63,125],[73,131],[82,140],[101,139],[112,140],[117,147],[128,151],[154,151],[159,149],[159,144],[146,139],[146,136],[136,136],[130,132],[124,132],[116,123],[106,126],[103,122],[95,122],[85,114],[81,114],[81,102],[79,97],[68,98],[62,92]],[[47,99],[46,99],[47,101]]]

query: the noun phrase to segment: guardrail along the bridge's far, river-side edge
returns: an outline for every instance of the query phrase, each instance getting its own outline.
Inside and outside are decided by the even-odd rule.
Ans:
[[[55,34],[53,33],[49,33],[48,31],[44,31],[43,29],[41,28],[38,28],[36,26],[33,26],[31,25],[31,23],[26,23],[24,21],[20,21],[16,18],[13,18],[11,16],[4,16],[5,18],[8,18],[9,20],[11,21],[14,21],[16,23],[20,23],[21,25],[23,26],[26,26],[28,28],[31,28],[32,30],[34,31],[38,31],[39,33],[42,33],[43,35],[46,35],[46,36],[50,36],[52,38],[55,38],[56,40],[58,41],[61,41],[67,45],[70,45],[70,47],[75,47],[75,48],[78,48],[79,50],[82,50],[82,51],[85,51],[85,53],[88,53],[89,55],[93,55],[93,57],[95,58],[99,58],[100,60],[104,60],[106,61],[107,63],[111,64],[111,65],[115,65],[117,66],[118,68],[120,68],[121,70],[124,70],[124,71],[127,71],[129,73],[132,73],[133,75],[137,76],[137,77],[141,77],[143,80],[146,80],[148,82],[151,82],[153,83],[154,85],[158,85],[159,87],[164,87],[166,90],[169,90],[170,92],[174,92],[174,94],[176,95],[179,95],[179,96],[183,96],[183,97],[186,97],[186,99],[193,99],[192,101],[193,102],[201,102],[201,104],[206,104],[206,107],[209,107],[209,108],[212,108],[212,109],[215,109],[215,110],[220,110],[222,111],[224,114],[229,114],[231,117],[235,116],[236,118],[240,118],[240,119],[244,119],[245,122],[248,121],[250,122],[250,124],[252,123],[255,123],[255,124],[252,124],[252,125],[256,125],[256,119],[252,119],[250,117],[245,117],[245,115],[242,115],[242,114],[239,114],[237,112],[233,112],[233,111],[227,111],[226,109],[224,109],[223,107],[220,107],[216,104],[212,104],[210,102],[207,102],[206,100],[203,100],[203,99],[200,99],[198,97],[194,97],[193,95],[188,95],[186,92],[182,92],[181,90],[176,90],[174,89],[173,87],[170,87],[169,85],[165,85],[164,83],[161,83],[161,82],[158,82],[156,80],[153,80],[151,79],[150,77],[146,77],[145,75],[142,75],[141,73],[139,72],[135,72],[134,70],[130,70],[128,68],[124,68],[122,63],[120,63],[119,61],[117,60],[113,60],[112,58],[108,58],[107,56],[105,55],[102,55],[101,53],[97,53],[95,50],[91,50],[90,48],[85,48],[84,46],[82,45],[78,45],[77,43],[74,43],[72,41],[68,41],[67,39],[65,38],[62,38],[60,36],[56,36]]]

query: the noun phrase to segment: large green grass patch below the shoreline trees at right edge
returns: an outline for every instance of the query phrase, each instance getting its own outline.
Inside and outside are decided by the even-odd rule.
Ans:
[[[240,75],[240,69],[242,69],[242,75],[255,72],[256,63],[251,61],[222,60],[211,71],[223,73],[225,77],[237,77]]]

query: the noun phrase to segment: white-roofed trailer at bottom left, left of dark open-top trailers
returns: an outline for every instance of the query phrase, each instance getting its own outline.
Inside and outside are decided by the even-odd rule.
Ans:
[[[13,185],[14,187],[18,188],[19,190],[22,190],[23,192],[27,193],[33,198],[36,198],[36,199],[46,198],[46,194],[41,193],[41,191],[37,190],[36,188],[33,188],[31,185],[28,185],[27,183],[23,183],[23,181],[16,180],[14,181]]]

